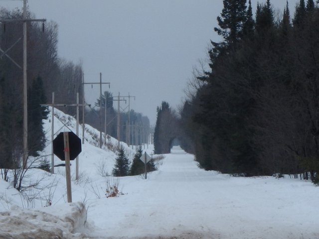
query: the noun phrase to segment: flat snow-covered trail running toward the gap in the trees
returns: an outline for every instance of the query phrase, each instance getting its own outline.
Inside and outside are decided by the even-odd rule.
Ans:
[[[318,188],[309,182],[234,178],[204,171],[197,167],[193,155],[174,148],[165,155],[159,171],[149,174],[147,180],[127,177],[121,179],[121,184],[127,195],[99,200],[89,209],[88,219],[99,228],[93,235],[162,239],[319,238],[316,197],[305,197],[318,196]]]

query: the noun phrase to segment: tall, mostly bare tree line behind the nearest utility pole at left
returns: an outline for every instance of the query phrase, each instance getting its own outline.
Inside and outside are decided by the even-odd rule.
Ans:
[[[35,16],[27,12],[27,17]],[[22,19],[20,9],[0,9],[0,18]],[[22,22],[6,22],[0,28],[0,48],[22,67]],[[16,44],[12,46],[14,43]],[[82,66],[58,56],[58,25],[27,22],[28,151],[38,156],[45,146],[42,119],[55,92],[56,104],[75,104],[82,92]],[[17,168],[22,155],[23,76],[7,56],[0,57],[0,168]],[[80,95],[81,96],[81,95]],[[76,109],[61,109],[74,115]]]

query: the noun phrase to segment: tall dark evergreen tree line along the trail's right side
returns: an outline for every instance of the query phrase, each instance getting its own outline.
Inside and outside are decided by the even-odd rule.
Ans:
[[[224,0],[209,70],[190,83],[181,146],[206,170],[319,181],[319,2]],[[158,118],[159,120],[159,118]],[[156,145],[155,145],[156,146]]]

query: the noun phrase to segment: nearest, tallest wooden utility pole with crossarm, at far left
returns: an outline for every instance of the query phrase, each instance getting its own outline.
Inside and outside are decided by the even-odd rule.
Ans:
[[[26,166],[26,160],[28,157],[28,115],[27,115],[27,79],[26,79],[26,22],[31,21],[42,21],[42,24],[44,24],[44,21],[46,19],[27,19],[26,18],[26,0],[23,0],[23,19],[0,19],[0,22],[23,22],[23,155],[22,155],[22,167],[23,169]],[[19,41],[19,40],[18,40]],[[18,41],[16,41],[13,45],[15,45]],[[13,46],[12,45],[12,46]],[[11,47],[12,47],[11,46]],[[0,49],[3,55],[7,56],[15,65],[17,65],[20,69],[21,67],[13,61],[7,54],[6,51],[3,51]]]

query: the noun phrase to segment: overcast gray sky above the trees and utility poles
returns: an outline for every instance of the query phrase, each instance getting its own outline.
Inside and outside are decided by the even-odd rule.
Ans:
[[[289,0],[291,15],[298,0]],[[265,2],[260,0],[259,2]],[[283,9],[286,0],[271,0]],[[252,0],[254,12],[257,0]],[[0,0],[0,6],[21,8],[22,0]],[[82,62],[85,82],[111,82],[103,86],[117,96],[136,96],[131,109],[156,122],[156,108],[166,101],[176,108],[192,68],[207,57],[222,0],[28,0],[38,18],[59,25],[59,56]],[[99,86],[87,86],[93,104]],[[58,101],[58,99],[56,99]],[[124,103],[122,103],[124,104]],[[125,105],[123,105],[125,107]]]

